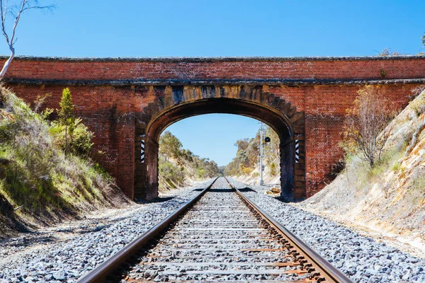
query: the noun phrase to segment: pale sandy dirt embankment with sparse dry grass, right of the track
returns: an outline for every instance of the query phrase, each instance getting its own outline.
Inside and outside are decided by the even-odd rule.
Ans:
[[[334,182],[299,206],[425,251],[425,131],[407,150],[424,110],[422,92],[382,133],[390,138],[375,168],[353,158]]]

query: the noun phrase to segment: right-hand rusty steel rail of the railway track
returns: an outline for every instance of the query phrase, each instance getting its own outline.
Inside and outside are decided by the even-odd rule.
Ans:
[[[225,178],[227,180],[227,178]],[[307,246],[306,243],[301,241],[300,238],[295,236],[292,232],[286,229],[282,224],[280,224],[276,219],[270,216],[267,212],[257,206],[254,202],[252,202],[248,197],[246,197],[241,191],[239,191],[236,187],[234,187],[229,180],[227,180],[229,186],[232,189],[236,190],[239,197],[246,202],[250,207],[252,207],[256,212],[258,212],[264,220],[268,222],[278,233],[280,233],[285,240],[287,240],[290,245],[292,245],[295,250],[297,250],[300,255],[307,260],[307,262],[312,264],[314,267],[314,272],[319,272],[319,274],[324,277],[327,282],[338,282],[338,283],[353,283],[351,279],[346,277],[344,273],[338,270],[334,265],[331,265],[330,262],[322,258],[321,255],[316,253],[310,246]]]

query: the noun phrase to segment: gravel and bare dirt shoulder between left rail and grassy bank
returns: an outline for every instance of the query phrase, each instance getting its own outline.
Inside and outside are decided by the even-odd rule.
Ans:
[[[211,182],[0,241],[0,282],[74,282],[199,193],[193,190]]]

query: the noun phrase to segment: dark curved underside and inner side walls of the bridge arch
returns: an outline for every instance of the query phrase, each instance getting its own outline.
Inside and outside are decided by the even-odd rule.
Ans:
[[[157,100],[161,102],[160,98]],[[155,102],[155,108],[157,108],[158,101]],[[285,109],[288,110],[288,106],[285,106]],[[140,137],[139,142],[144,147],[141,152],[140,144],[136,141],[136,198],[149,200],[158,195],[159,137],[164,129],[187,117],[212,113],[243,115],[264,122],[271,127],[280,139],[281,195],[289,200],[305,197],[305,171],[302,171],[301,174],[296,173],[297,167],[303,166],[303,164],[297,164],[300,160],[300,148],[295,148],[297,146],[296,125],[279,108],[239,98],[212,97],[183,101],[168,108],[159,108],[157,111],[148,110],[147,112],[150,116],[147,122],[138,122],[135,127],[136,137]],[[143,116],[140,115],[140,117]],[[139,158],[142,158],[142,162]]]

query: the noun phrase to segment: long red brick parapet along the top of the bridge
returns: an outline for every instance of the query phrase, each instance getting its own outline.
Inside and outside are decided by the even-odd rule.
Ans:
[[[5,59],[0,59],[0,64]],[[6,78],[120,80],[424,79],[424,57],[60,59],[16,57]]]

